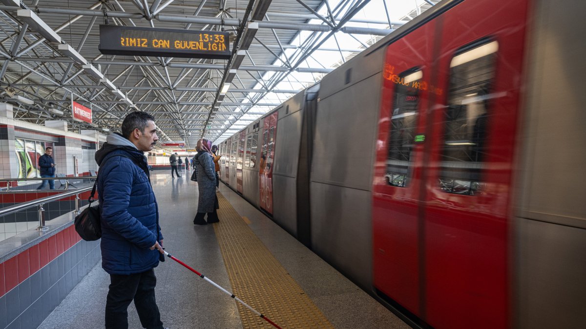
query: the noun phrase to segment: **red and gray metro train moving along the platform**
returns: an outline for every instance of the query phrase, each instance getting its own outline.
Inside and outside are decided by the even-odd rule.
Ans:
[[[443,1],[220,144],[413,325],[586,327],[586,2]]]

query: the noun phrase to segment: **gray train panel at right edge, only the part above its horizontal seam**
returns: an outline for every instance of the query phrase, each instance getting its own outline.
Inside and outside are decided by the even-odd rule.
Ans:
[[[522,217],[586,228],[586,184],[578,179],[586,168],[586,92],[574,83],[586,76],[586,43],[575,42],[575,32],[586,31],[586,4],[562,3],[571,13],[560,1],[540,1],[533,29]]]

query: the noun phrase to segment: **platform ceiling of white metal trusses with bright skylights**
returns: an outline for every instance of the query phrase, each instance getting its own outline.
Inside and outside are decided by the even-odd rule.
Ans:
[[[13,105],[16,119],[67,120],[76,132],[117,131],[125,114],[140,109],[155,116],[163,142],[219,142],[438,2],[412,0],[399,20],[357,15],[366,5],[388,12],[396,1],[406,2],[0,0],[0,102]],[[104,55],[102,24],[224,30],[230,50],[239,51],[229,60]],[[323,46],[342,33],[372,37],[354,49]],[[322,66],[313,57],[318,49],[340,60]],[[311,73],[312,81],[293,79],[295,72]],[[72,97],[91,107],[92,124],[71,119]]]

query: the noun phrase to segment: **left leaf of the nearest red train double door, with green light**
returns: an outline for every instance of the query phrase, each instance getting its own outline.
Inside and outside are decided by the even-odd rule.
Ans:
[[[373,186],[374,286],[420,317],[418,200],[434,30],[428,22],[387,49]]]

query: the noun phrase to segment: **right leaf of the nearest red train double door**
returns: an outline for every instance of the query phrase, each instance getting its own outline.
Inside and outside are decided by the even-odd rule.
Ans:
[[[493,10],[495,5],[498,10]],[[509,227],[526,0],[466,1],[443,16],[425,159],[425,318],[510,327]]]

